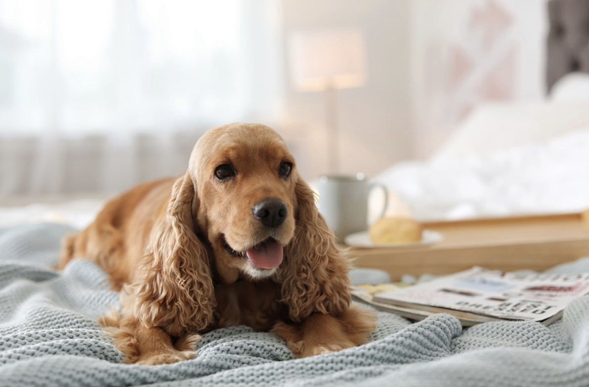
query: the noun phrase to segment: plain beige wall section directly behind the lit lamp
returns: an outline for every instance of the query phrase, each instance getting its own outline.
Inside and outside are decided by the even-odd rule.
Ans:
[[[409,84],[409,0],[284,0],[283,42],[293,31],[312,28],[362,29],[366,84],[337,90],[342,143],[341,173],[373,176],[395,161],[412,157]],[[327,171],[325,95],[295,91],[284,52],[284,127],[305,131],[310,178]]]

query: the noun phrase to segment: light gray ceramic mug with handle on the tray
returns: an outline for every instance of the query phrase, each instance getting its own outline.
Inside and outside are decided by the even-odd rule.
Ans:
[[[380,217],[385,216],[389,194],[380,183],[369,183],[364,174],[355,176],[322,176],[317,182],[319,211],[337,240],[358,231],[368,229],[368,196],[373,188],[385,193],[385,203]]]

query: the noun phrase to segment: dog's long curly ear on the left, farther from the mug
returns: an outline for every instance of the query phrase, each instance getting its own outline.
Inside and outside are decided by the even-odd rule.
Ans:
[[[193,209],[198,197],[187,172],[174,183],[166,217],[152,231],[138,268],[144,276],[133,289],[137,319],[172,336],[206,328],[216,305],[209,251],[195,234]]]

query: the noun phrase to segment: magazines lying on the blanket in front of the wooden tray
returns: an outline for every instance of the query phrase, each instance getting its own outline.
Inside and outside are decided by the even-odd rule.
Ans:
[[[575,297],[589,294],[589,273],[505,273],[473,267],[413,286],[361,285],[352,295],[378,309],[422,320],[435,313],[458,317],[464,326],[500,320],[560,319]]]

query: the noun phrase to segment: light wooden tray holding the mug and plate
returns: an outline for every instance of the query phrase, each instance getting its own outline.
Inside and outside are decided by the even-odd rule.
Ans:
[[[350,249],[356,267],[441,275],[472,266],[545,270],[589,256],[589,210],[583,213],[423,223],[444,240],[431,246]]]

